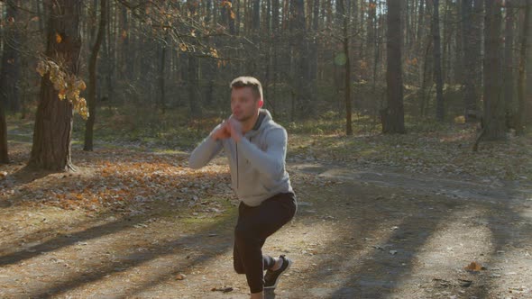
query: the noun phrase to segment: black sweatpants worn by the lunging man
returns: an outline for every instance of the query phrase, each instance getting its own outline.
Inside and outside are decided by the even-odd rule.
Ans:
[[[245,274],[252,293],[262,291],[264,270],[275,263],[270,256],[262,255],[262,245],[266,238],[294,217],[297,209],[293,193],[274,195],[258,206],[240,203],[234,228],[234,270]]]

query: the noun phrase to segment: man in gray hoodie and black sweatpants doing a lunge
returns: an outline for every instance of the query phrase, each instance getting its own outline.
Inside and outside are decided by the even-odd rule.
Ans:
[[[252,299],[263,298],[264,288],[275,288],[292,264],[283,255],[262,255],[261,248],[297,211],[296,195],[285,170],[287,132],[261,109],[263,103],[259,80],[235,78],[231,82],[233,114],[211,131],[189,159],[190,168],[202,168],[225,150],[232,187],[240,199],[234,228],[234,270],[245,274]]]

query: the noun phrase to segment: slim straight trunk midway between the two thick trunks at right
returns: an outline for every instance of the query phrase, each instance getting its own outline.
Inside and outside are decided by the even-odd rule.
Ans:
[[[439,0],[434,0],[432,36],[434,38],[434,79],[436,81],[436,119],[444,121],[444,82],[442,78],[442,45],[440,37]]]

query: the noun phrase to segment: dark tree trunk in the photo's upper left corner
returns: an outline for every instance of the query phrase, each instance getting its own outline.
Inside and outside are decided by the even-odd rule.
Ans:
[[[5,104],[5,109],[19,112],[21,105],[19,99],[20,77],[20,35],[18,33],[18,20],[16,6],[18,1],[8,1],[6,10],[6,30],[4,53],[2,55],[2,69],[0,70],[0,104]],[[3,22],[5,22],[3,20]]]

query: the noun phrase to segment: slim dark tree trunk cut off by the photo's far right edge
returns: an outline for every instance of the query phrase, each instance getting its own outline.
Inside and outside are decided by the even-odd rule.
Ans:
[[[527,74],[527,55],[529,53],[528,42],[530,34],[530,9],[532,7],[531,0],[527,0],[527,5],[525,7],[525,18],[523,20],[523,34],[521,37],[521,49],[519,50],[519,78],[518,78],[518,120],[516,125],[516,132],[520,135],[524,132],[524,126],[527,117],[527,104],[525,100],[525,95],[527,95],[527,89],[532,89],[527,87],[527,75],[532,77],[532,74]]]

